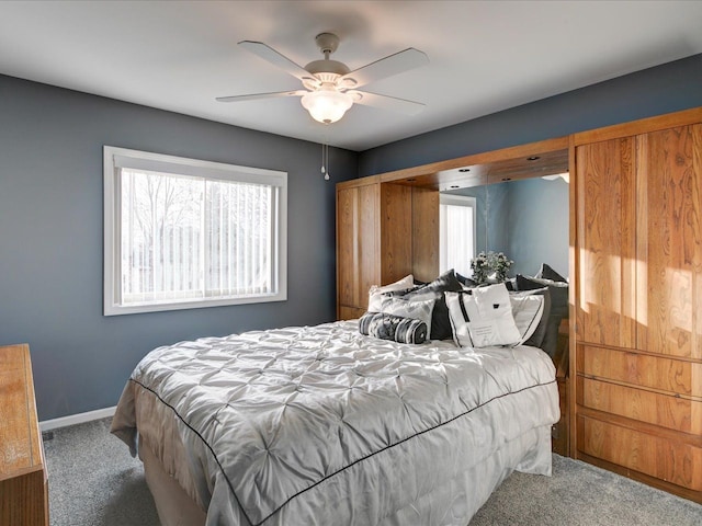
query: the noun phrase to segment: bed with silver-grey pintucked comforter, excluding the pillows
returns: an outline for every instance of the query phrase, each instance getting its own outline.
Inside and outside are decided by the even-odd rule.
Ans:
[[[551,474],[558,418],[540,348],[403,344],[339,321],[159,347],[112,432],[166,526],[466,526],[513,470]]]

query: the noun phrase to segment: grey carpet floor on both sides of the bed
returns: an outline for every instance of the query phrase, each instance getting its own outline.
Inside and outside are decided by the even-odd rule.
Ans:
[[[159,525],[141,464],[110,435],[110,419],[53,434],[52,526]],[[702,505],[554,455],[553,477],[511,474],[469,526],[507,525],[700,526]]]

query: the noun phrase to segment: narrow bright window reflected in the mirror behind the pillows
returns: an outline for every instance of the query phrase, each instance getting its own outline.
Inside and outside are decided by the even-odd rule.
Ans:
[[[471,276],[475,258],[475,197],[441,194],[439,208],[439,266]]]

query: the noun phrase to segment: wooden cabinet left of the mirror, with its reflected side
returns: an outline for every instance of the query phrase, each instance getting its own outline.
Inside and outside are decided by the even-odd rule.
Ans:
[[[360,318],[369,288],[439,270],[439,193],[370,176],[337,185],[337,318]]]

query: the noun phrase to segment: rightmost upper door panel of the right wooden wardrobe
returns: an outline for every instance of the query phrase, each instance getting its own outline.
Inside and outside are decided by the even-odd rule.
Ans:
[[[702,358],[702,125],[637,137],[639,348]]]

